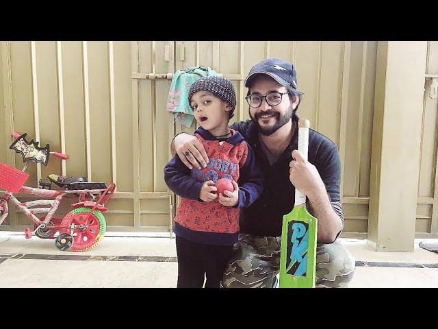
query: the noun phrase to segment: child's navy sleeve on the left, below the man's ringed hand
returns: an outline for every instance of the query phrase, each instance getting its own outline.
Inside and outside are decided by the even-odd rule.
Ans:
[[[199,193],[203,183],[190,176],[190,169],[185,167],[178,155],[175,155],[164,167],[164,181],[170,190],[180,197],[202,201]]]

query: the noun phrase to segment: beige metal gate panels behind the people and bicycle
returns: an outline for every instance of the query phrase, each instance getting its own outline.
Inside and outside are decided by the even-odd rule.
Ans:
[[[165,110],[170,80],[153,80],[149,73],[211,66],[233,81],[238,99],[233,119],[245,120],[243,80],[250,67],[267,57],[291,60],[305,92],[300,116],[339,146],[343,236],[366,236],[377,42],[1,42],[0,47],[0,103],[5,104],[0,161],[14,158],[8,150],[13,114],[15,130],[70,156],[64,167],[57,158],[47,168],[30,166],[30,186],[52,172],[116,182],[105,215],[110,230],[170,228],[172,195],[162,169],[170,156],[170,138],[193,131],[194,125],[187,130],[173,123]],[[436,42],[430,43],[430,53],[437,54]],[[430,72],[436,73],[438,58],[433,56]],[[417,215],[432,217],[437,149],[429,131],[436,136],[437,103],[430,101],[419,177],[419,197],[429,203],[419,204]],[[15,159],[19,167],[20,158]],[[10,228],[18,228],[29,220],[18,215],[11,223]],[[428,227],[417,219],[417,230],[427,232]]]

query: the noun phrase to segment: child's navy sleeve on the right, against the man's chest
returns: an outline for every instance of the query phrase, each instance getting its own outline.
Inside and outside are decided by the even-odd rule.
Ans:
[[[244,142],[246,143],[246,142]],[[256,163],[253,149],[248,146],[248,156],[240,169],[239,177],[239,203],[235,207],[248,207],[261,195],[263,191],[263,173]]]

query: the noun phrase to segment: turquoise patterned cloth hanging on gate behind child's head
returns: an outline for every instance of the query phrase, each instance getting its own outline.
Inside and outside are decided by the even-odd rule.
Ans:
[[[173,112],[175,120],[185,127],[190,127],[194,120],[193,110],[188,101],[189,88],[201,77],[209,75],[218,75],[218,73],[209,66],[193,66],[178,70],[173,75],[166,110]]]

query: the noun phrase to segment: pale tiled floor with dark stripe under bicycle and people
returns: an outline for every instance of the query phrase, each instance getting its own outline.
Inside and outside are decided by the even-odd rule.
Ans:
[[[53,240],[0,232],[0,287],[176,286],[175,239],[115,234],[73,253],[60,252]],[[363,240],[341,241],[357,260],[350,287],[438,287],[438,254],[419,241],[414,252],[393,253],[374,252]]]

